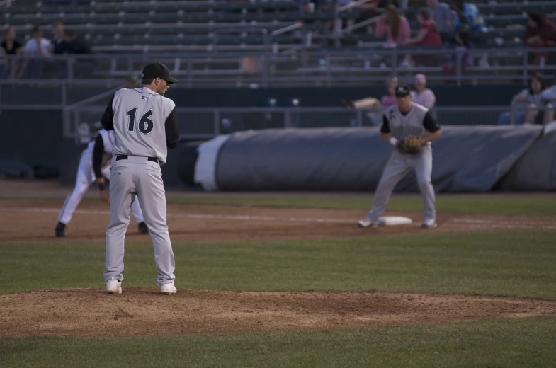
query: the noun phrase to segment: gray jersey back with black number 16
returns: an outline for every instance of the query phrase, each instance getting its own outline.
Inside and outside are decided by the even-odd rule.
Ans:
[[[174,101],[149,88],[120,89],[113,98],[113,154],[157,157],[166,162],[166,118]]]

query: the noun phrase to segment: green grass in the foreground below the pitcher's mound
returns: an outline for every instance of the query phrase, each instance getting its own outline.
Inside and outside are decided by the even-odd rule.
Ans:
[[[2,367],[555,367],[555,317],[356,330],[3,338]]]

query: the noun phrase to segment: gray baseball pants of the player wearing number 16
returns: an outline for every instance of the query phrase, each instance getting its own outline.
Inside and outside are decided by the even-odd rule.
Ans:
[[[166,194],[159,163],[147,157],[128,156],[110,167],[110,224],[106,231],[106,281],[123,280],[125,231],[130,224],[131,204],[137,200],[154,246],[157,284],[169,284],[174,276],[174,252],[166,225]]]

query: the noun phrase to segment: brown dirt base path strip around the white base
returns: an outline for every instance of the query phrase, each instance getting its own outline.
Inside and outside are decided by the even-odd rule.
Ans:
[[[106,241],[110,221],[108,205],[83,201],[67,227],[67,238],[55,238],[54,228],[63,199],[0,200],[2,241]],[[405,216],[413,224],[358,229],[356,222],[366,211],[338,209],[261,208],[210,205],[168,205],[168,226],[173,241],[237,241],[296,238],[368,237],[422,231],[421,213],[388,212]],[[556,229],[556,220],[534,217],[470,217],[438,214],[433,233],[493,229]],[[132,220],[126,241],[150,241],[137,234]]]

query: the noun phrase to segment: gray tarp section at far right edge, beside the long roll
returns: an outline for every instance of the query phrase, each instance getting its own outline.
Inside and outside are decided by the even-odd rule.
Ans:
[[[500,187],[508,190],[556,190],[556,132],[550,132],[537,142],[501,180]]]

